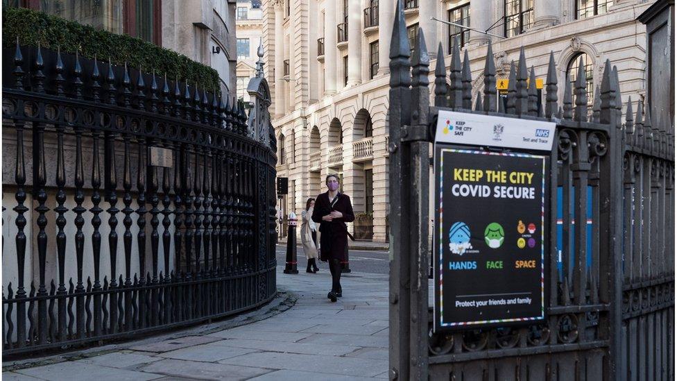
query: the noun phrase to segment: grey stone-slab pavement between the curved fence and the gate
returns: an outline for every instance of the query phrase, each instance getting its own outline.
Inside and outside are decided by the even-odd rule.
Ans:
[[[345,274],[341,278],[344,296],[331,303],[327,299],[331,285],[328,271],[286,275],[282,269],[284,266],[277,266],[277,287],[286,294],[263,312],[237,318],[244,325],[225,329],[223,322],[203,325],[92,348],[67,361],[38,362],[47,364],[41,366],[22,368],[25,363],[3,363],[3,370],[8,369],[2,373],[3,380],[388,378],[388,276]],[[293,298],[295,303],[289,307]],[[271,317],[247,323],[266,316]]]

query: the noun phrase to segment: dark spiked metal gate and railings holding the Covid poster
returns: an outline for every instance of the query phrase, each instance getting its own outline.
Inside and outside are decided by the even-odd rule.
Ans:
[[[545,110],[524,49],[509,77],[507,106],[496,99],[488,46],[483,94],[471,92],[458,46],[447,73],[442,47],[429,105],[423,33],[410,60],[398,1],[390,51],[390,378],[400,380],[625,380],[674,378],[674,135],[653,126],[642,103],[622,100],[616,67],[604,67],[588,111],[583,65],[557,99],[551,54]],[[411,72],[410,72],[411,70]],[[410,74],[411,73],[411,74]],[[572,96],[573,94],[573,96]],[[474,107],[472,100],[475,100]],[[575,99],[575,103],[572,103]],[[429,144],[439,110],[554,121],[547,320],[526,328],[433,334],[429,307]],[[547,117],[545,117],[547,115]],[[588,229],[588,219],[592,227]],[[556,247],[560,235],[561,247]],[[561,251],[559,259],[558,249]]]

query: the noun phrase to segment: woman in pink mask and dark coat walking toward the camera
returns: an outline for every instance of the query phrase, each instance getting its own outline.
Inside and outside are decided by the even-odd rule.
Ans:
[[[313,221],[320,224],[320,260],[329,262],[332,272],[332,291],[327,298],[332,302],[343,296],[341,289],[341,262],[347,258],[348,226],[346,222],[355,219],[348,195],[339,192],[339,176],[325,178],[327,192],[317,196],[313,210]]]

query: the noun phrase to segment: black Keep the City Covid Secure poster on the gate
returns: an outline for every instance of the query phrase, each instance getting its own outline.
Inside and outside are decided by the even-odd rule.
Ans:
[[[545,319],[546,162],[436,145],[436,330]]]

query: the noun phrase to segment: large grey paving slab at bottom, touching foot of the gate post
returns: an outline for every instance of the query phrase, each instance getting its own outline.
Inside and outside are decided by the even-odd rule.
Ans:
[[[273,369],[290,369],[293,371],[307,371],[335,373],[342,375],[357,375],[372,377],[388,370],[387,361],[373,359],[358,359],[354,357],[333,357],[320,355],[300,355],[297,353],[250,353],[232,357],[219,362],[220,364],[239,364],[243,366],[262,366]]]

